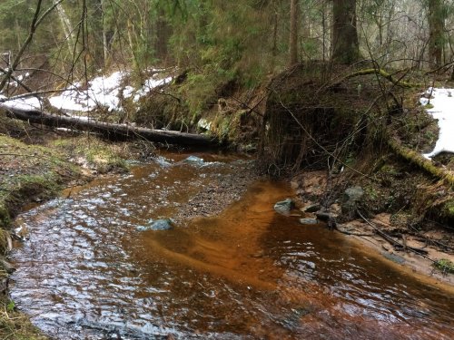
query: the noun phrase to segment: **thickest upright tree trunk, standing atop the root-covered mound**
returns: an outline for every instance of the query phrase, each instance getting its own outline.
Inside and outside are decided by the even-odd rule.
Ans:
[[[356,0],[333,0],[331,60],[354,63],[360,59],[356,29]]]

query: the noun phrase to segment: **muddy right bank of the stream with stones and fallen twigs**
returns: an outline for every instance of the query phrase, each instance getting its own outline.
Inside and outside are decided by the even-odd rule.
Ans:
[[[392,179],[388,176],[387,180]],[[424,277],[432,284],[453,287],[450,266],[454,263],[454,234],[449,226],[423,219],[411,210],[415,208],[412,205],[399,210],[384,208],[386,199],[419,199],[415,181],[420,184],[421,177],[413,174],[395,180],[391,189],[390,185],[380,189],[373,180],[307,171],[296,176],[292,186],[303,216],[326,223],[327,232],[330,228],[346,235],[364,252],[373,252],[403,272]],[[352,189],[360,190],[360,198],[349,207]]]

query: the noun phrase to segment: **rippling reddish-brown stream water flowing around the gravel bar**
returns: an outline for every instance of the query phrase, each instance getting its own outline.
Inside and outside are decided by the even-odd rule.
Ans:
[[[272,206],[258,181],[216,218],[172,217],[246,160],[167,154],[20,217],[16,306],[55,339],[452,339],[454,296],[400,273],[323,226]]]

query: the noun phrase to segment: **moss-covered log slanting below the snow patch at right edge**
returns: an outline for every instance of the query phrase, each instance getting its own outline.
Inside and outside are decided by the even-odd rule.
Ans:
[[[412,164],[417,165],[421,170],[425,170],[435,178],[445,181],[449,184],[449,186],[454,186],[454,175],[452,173],[435,166],[430,160],[426,160],[422,157],[419,152],[406,148],[395,138],[389,138],[388,145],[392,151],[404,160],[409,160]]]

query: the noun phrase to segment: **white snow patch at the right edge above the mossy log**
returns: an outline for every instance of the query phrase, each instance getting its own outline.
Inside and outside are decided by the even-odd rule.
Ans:
[[[454,153],[454,89],[429,88],[428,98],[421,98],[422,105],[430,103],[433,108],[428,109],[432,117],[439,121],[439,140],[433,151],[425,153],[427,159],[437,156],[441,152]]]

